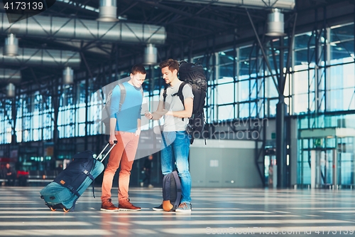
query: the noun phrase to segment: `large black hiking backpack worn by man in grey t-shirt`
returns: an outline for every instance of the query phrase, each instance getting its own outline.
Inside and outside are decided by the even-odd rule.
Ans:
[[[179,77],[182,83],[179,87],[178,95],[182,105],[184,105],[184,96],[182,95],[182,88],[186,84],[190,84],[192,93],[194,94],[194,105],[192,108],[192,116],[189,119],[186,131],[192,135],[190,144],[194,142],[194,138],[203,137],[202,131],[204,130],[204,101],[206,99],[207,80],[204,75],[202,65],[196,63],[187,63],[186,61],[180,62]]]

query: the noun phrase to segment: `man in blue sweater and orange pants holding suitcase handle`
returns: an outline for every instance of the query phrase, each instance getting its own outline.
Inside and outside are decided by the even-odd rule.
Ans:
[[[126,90],[126,98],[119,111],[121,99],[121,89],[116,85],[111,95],[111,117],[110,117],[110,136],[109,143],[117,144],[111,150],[109,163],[104,172],[102,181],[102,211],[140,211],[141,208],[134,206],[129,201],[129,179],[136,150],[138,139],[141,134],[141,106],[143,95],[141,85],[146,79],[146,69],[143,65],[133,65],[130,80],[123,83]],[[119,207],[114,206],[111,201],[112,181],[116,170],[121,164],[119,172]]]

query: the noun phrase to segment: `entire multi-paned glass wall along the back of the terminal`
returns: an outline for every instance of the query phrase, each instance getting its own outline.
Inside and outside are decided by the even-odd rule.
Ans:
[[[284,53],[284,66],[291,53],[291,70],[286,76],[283,95],[288,114],[302,117],[299,130],[337,127],[338,115],[322,114],[337,112],[342,115],[355,110],[354,23],[300,33],[294,38],[293,51],[288,52],[286,46],[287,37],[283,41],[275,38],[266,44],[265,52],[271,68],[268,68],[255,42],[193,58],[194,62],[202,63],[207,75],[207,122],[274,117],[278,103],[276,75],[280,73],[281,52]],[[280,47],[284,51],[280,51]],[[144,95],[148,108],[155,110],[156,104],[153,102],[158,102],[164,83],[158,66],[146,69],[148,80],[143,84]],[[124,78],[127,75],[127,72],[121,72],[117,77]],[[112,82],[114,79],[115,75],[111,75],[105,81]],[[103,100],[96,93],[98,89],[94,81],[82,80],[75,85],[58,86],[58,98],[35,92],[18,96],[16,106],[13,106],[15,100],[2,100],[1,107],[4,109],[0,110],[0,144],[11,143],[13,126],[16,142],[53,139],[55,125],[58,125],[59,138],[102,134],[103,127],[99,121]],[[58,103],[58,117],[55,117],[54,104]],[[16,125],[13,123],[12,107],[16,107]],[[151,126],[153,124],[146,128]],[[353,142],[351,137],[337,139],[337,142],[329,137],[322,139],[322,144],[329,146],[323,147],[320,161],[329,157],[329,149],[339,149],[339,144]],[[317,148],[314,142],[315,139],[302,139],[298,143],[297,173],[298,181],[302,184],[310,182],[310,150]],[[339,180],[348,183],[353,177],[349,169],[349,165],[353,165],[353,158],[349,152],[342,150],[341,153],[337,156],[340,162],[337,174],[340,175]],[[324,167],[327,167],[325,163]],[[331,174],[327,177],[331,177]],[[324,181],[327,182],[327,179],[324,178]]]

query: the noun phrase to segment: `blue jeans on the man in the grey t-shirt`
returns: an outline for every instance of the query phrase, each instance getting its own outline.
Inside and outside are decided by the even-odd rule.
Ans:
[[[163,132],[161,150],[161,172],[163,175],[173,172],[176,162],[181,181],[181,203],[191,203],[191,176],[189,171],[189,150],[191,135],[185,131]],[[166,144],[166,146],[165,146]]]

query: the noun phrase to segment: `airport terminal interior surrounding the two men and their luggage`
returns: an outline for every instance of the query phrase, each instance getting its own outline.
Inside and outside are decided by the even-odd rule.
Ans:
[[[26,9],[33,2],[16,12],[0,3],[0,169],[16,171],[13,182],[0,177],[0,236],[354,234],[354,1],[41,0]],[[75,154],[97,156],[108,142],[111,88],[143,64],[142,110],[155,111],[168,58],[202,65],[207,79],[204,130],[190,146],[191,214],[152,210],[162,201],[155,128],[164,121],[143,114],[129,189],[142,210],[100,211],[100,174],[96,199],[89,188],[75,211],[50,211],[40,189]]]

